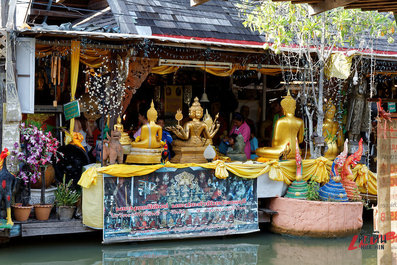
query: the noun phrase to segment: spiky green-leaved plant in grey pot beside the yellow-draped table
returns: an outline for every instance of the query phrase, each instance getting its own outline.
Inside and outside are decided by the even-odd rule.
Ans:
[[[65,175],[62,183],[54,191],[55,204],[58,208],[60,220],[70,220],[73,217],[75,203],[80,199],[80,193],[72,187],[73,179],[65,184]]]

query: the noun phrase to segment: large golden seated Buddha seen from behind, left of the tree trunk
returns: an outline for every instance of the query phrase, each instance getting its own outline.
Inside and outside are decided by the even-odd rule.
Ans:
[[[284,117],[279,118],[274,124],[274,134],[271,141],[271,147],[261,147],[256,150],[256,154],[259,157],[265,157],[267,159],[279,159],[279,154],[285,149],[285,146],[290,143],[291,152],[287,155],[287,159],[294,160],[296,153],[296,140],[299,143],[303,141],[304,124],[303,120],[295,117],[296,101],[292,98],[291,94],[287,93],[287,96],[281,100],[281,107],[284,113]],[[301,153],[298,147],[299,153]]]

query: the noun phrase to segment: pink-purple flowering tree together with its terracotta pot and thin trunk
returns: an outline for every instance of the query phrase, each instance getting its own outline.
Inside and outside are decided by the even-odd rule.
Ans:
[[[20,164],[19,172],[16,177],[21,178],[25,185],[29,186],[30,182],[37,182],[41,178],[41,196],[40,203],[34,204],[35,216],[37,220],[48,220],[52,209],[52,204],[46,203],[45,186],[46,179],[44,176],[47,165],[51,164],[51,157],[62,155],[57,152],[59,142],[55,139],[51,132],[43,132],[34,125],[25,125],[21,123],[19,126],[21,145],[14,144],[15,150],[12,152],[12,163]],[[57,159],[58,161],[58,159]],[[22,166],[21,166],[22,165]],[[29,188],[30,190],[30,188]],[[26,197],[25,194],[22,197]],[[26,200],[22,200],[22,206],[27,204]]]

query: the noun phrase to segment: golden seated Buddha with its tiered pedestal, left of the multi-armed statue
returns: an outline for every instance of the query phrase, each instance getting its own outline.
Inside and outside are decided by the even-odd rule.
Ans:
[[[153,100],[147,111],[148,123],[142,125],[140,136],[131,143],[131,151],[127,155],[126,163],[136,164],[159,164],[161,152],[164,151],[164,144],[161,142],[163,130],[156,124],[157,111],[154,108]]]

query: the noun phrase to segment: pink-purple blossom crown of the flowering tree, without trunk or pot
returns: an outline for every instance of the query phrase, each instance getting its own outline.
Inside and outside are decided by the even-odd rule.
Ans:
[[[12,151],[11,163],[14,163],[15,160],[24,163],[25,169],[21,168],[16,177],[20,177],[25,183],[29,179],[36,183],[38,177],[41,177],[41,168],[45,168],[46,163],[51,163],[52,155],[62,156],[57,151],[60,142],[52,136],[51,132],[45,133],[32,124],[26,126],[25,123],[21,123],[19,130],[21,144],[14,144],[15,149]]]

